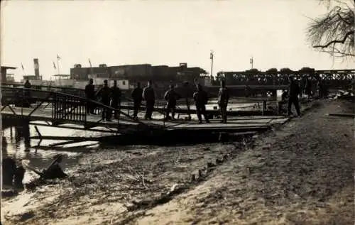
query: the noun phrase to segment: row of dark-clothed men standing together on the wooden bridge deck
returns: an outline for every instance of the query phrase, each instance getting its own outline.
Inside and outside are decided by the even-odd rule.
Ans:
[[[184,84],[187,87],[188,83]],[[204,120],[206,123],[209,123],[209,119],[206,111],[206,104],[208,101],[208,94],[202,88],[202,85],[195,81],[196,91],[192,94],[192,98],[195,101],[196,106],[196,114],[199,119],[199,123],[202,124],[202,116],[204,116]],[[114,86],[109,87],[107,80],[104,80],[104,87],[99,89],[99,92],[95,92],[94,89],[94,81],[93,79],[89,80],[89,84],[85,87],[85,94],[87,99],[91,99],[93,101],[101,101],[102,104],[106,106],[111,106],[116,109],[114,113],[114,118],[119,119],[119,108],[121,106],[121,98],[122,92],[121,89],[117,86],[116,80],[114,81]],[[136,87],[131,92],[131,97],[133,98],[133,119],[138,119],[138,111],[141,107],[142,101],[146,101],[146,114],[144,119],[152,119],[153,109],[155,105],[155,92],[152,86],[152,81],[148,81],[148,85],[141,88],[141,84],[138,82]],[[164,94],[164,99],[166,101],[166,109],[165,109],[165,120],[175,119],[175,110],[178,99],[182,98],[181,94],[178,94],[175,90],[175,86],[173,84],[170,85],[170,88]],[[189,112],[188,119],[191,119],[190,116],[190,96],[185,93],[183,97],[187,104],[187,111]],[[221,87],[219,89],[218,96],[218,105],[219,110],[222,116],[222,123],[226,123],[226,108],[229,101],[229,93],[228,89],[226,89],[226,85],[224,81],[221,81]],[[87,104],[87,114],[95,114],[95,109],[97,105],[94,102],[89,102]],[[171,117],[170,117],[171,113]],[[102,120],[111,121],[112,110],[107,110],[107,108],[102,109]]]

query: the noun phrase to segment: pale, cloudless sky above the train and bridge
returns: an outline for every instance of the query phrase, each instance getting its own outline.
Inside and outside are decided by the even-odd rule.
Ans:
[[[50,79],[80,63],[89,67],[151,64],[211,71],[350,69],[349,62],[313,50],[305,31],[327,11],[317,0],[1,1],[1,65],[16,80]],[[21,63],[25,70],[21,68]]]

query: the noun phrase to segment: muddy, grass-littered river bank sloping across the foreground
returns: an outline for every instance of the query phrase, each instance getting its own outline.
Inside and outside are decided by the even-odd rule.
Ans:
[[[67,180],[2,199],[2,224],[354,224],[352,103],[240,143],[83,155]],[[18,210],[14,210],[18,208]]]

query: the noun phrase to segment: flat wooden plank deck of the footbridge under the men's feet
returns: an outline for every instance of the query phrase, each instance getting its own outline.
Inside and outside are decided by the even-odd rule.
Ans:
[[[16,112],[17,115],[13,114],[13,111]],[[11,116],[12,118],[24,118],[29,121],[48,121],[53,122],[52,118],[52,109],[43,109],[40,111],[33,111],[31,108],[21,108],[21,107],[6,107],[1,111],[2,116]],[[33,111],[33,114],[29,115]],[[135,121],[129,121],[128,119],[124,119],[121,116],[120,121],[113,119],[112,121],[100,121],[101,115],[87,115],[86,125],[94,128],[94,127],[103,127],[103,128],[111,128],[116,132],[117,128],[128,128],[132,130],[138,130],[140,124]],[[153,119],[153,120],[141,120],[148,126],[152,128],[163,128],[165,130],[209,130],[209,131],[239,131],[239,130],[253,130],[260,128],[270,128],[275,124],[283,124],[285,121],[288,121],[288,118],[284,116],[243,116],[243,117],[231,117],[227,124],[219,123],[219,120],[212,119],[210,124],[198,124],[197,121],[163,121],[162,119]],[[80,121],[70,121],[63,119],[60,121],[60,124],[75,124],[81,125]],[[119,124],[119,126],[118,126]],[[58,126],[60,127],[60,126]],[[89,131],[90,128],[87,128]]]

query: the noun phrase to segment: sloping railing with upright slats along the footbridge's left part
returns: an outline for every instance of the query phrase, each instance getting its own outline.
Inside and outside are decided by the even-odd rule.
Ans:
[[[141,121],[135,121],[120,109],[114,109],[98,101],[40,89],[1,87],[1,111],[7,107],[18,116],[47,116],[53,123],[74,122],[84,126],[95,126],[95,123],[101,122],[102,118],[91,116],[88,120],[87,106],[89,105],[95,105],[100,110],[116,111],[120,115],[117,119],[118,127],[121,119],[146,125]]]

